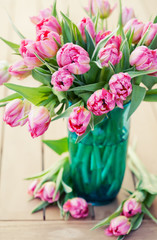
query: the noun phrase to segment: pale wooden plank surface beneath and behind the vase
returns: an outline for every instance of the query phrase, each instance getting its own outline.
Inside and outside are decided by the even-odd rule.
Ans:
[[[84,15],[81,6],[87,4],[87,0],[58,0],[58,7],[62,11],[70,5],[70,14],[77,22]],[[111,3],[115,3],[111,1]],[[127,6],[134,7],[136,15],[143,21],[156,14],[156,0],[129,0],[123,1]],[[28,17],[38,13],[42,8],[52,4],[50,0],[0,0],[0,36],[14,42],[20,41],[9,24],[5,10],[9,12],[13,21],[27,36],[35,37],[33,25]],[[117,13],[110,17],[111,24],[115,23]],[[11,51],[1,42],[0,60],[7,59],[13,62],[17,56],[11,55]],[[19,83],[12,79],[11,82]],[[32,78],[20,82],[28,86],[37,86]],[[9,91],[0,87],[0,98],[6,96]],[[58,121],[51,124],[50,129],[43,137],[32,140],[27,127],[10,128],[3,124],[3,109],[0,109],[0,239],[1,240],[25,240],[25,239],[111,239],[104,235],[104,229],[90,231],[94,224],[111,214],[120,201],[125,198],[123,188],[133,189],[133,180],[127,169],[123,188],[117,199],[103,207],[94,207],[95,220],[91,214],[86,220],[63,221],[60,219],[59,210],[49,207],[34,215],[31,210],[39,203],[38,200],[28,201],[28,182],[25,177],[31,176],[49,167],[52,162],[58,160],[58,156],[41,142],[44,139],[59,139],[66,136],[66,122]],[[141,107],[132,117],[130,141],[137,138],[137,153],[141,157],[148,170],[157,174],[157,104],[142,103]],[[156,202],[152,207],[152,213],[157,217]],[[131,234],[127,239],[157,239],[157,227],[151,220],[145,219],[140,230]]]

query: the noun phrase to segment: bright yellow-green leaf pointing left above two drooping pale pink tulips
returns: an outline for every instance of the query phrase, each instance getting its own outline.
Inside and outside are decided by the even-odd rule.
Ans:
[[[34,105],[40,105],[44,100],[47,100],[50,94],[52,94],[51,88],[41,86],[37,88],[24,87],[12,83],[4,84],[7,88],[19,93]]]

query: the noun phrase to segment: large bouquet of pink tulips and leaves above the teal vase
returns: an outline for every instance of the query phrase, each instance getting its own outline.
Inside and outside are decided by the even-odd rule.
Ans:
[[[52,8],[31,17],[36,39],[20,44],[0,37],[21,59],[0,67],[0,83],[16,93],[0,100],[4,121],[11,127],[28,122],[31,136],[42,135],[51,121],[68,118],[68,128],[80,141],[115,107],[131,102],[128,118],[142,100],[157,101],[157,18],[144,24],[132,9],[122,10],[115,30],[107,29],[114,10],[108,1],[90,0],[88,17],[79,23]],[[106,19],[106,24],[104,24]],[[105,26],[104,26],[105,25]],[[24,87],[4,83],[27,76],[41,83]],[[142,86],[141,86],[142,85]]]

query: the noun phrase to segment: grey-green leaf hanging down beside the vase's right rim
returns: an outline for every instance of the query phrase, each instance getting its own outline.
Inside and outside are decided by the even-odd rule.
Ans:
[[[132,90],[132,98],[131,98],[131,105],[128,113],[128,119],[131,117],[131,115],[135,112],[135,110],[138,108],[140,103],[143,101],[146,94],[146,89],[143,87],[140,87],[138,85],[133,85]]]

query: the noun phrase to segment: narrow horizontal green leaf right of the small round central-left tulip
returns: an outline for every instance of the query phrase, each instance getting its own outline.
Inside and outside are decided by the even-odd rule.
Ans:
[[[68,92],[72,91],[89,91],[89,92],[94,92],[98,89],[101,89],[104,86],[104,83],[99,82],[99,83],[93,83],[93,84],[88,84],[80,87],[74,87],[68,90]]]

